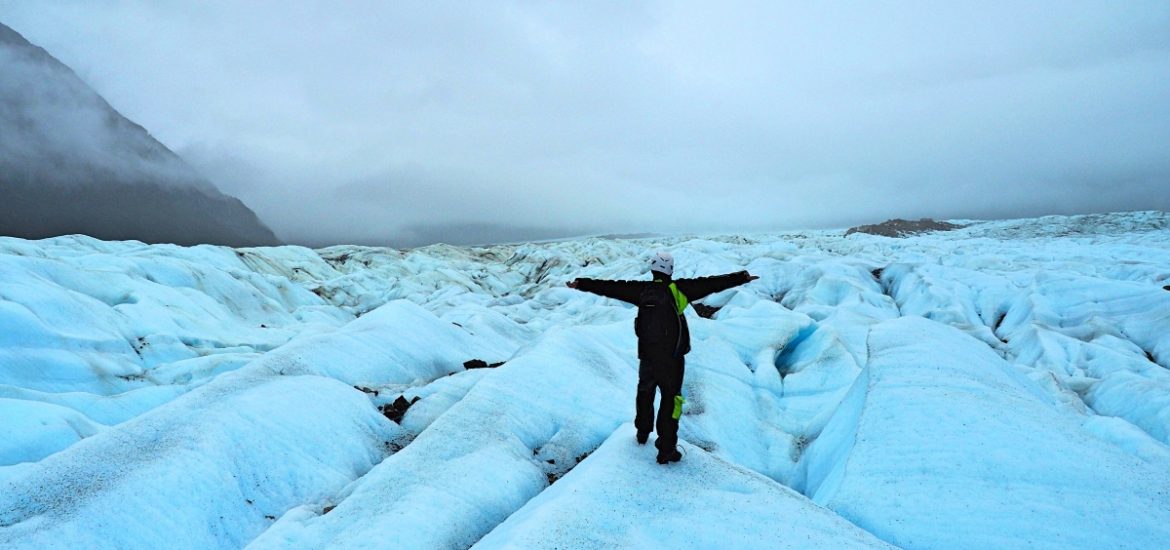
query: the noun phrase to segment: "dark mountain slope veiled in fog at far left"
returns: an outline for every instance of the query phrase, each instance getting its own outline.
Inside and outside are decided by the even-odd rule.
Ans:
[[[278,242],[71,69],[0,23],[0,235]]]

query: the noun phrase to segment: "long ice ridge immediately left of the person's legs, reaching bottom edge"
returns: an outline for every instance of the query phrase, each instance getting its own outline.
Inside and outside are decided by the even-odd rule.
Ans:
[[[390,535],[414,548],[470,545],[549,486],[535,449],[570,463],[627,418],[615,404],[633,403],[636,369],[597,334],[619,329],[628,330],[552,331],[481,379],[337,508],[295,510],[250,548],[351,546]]]

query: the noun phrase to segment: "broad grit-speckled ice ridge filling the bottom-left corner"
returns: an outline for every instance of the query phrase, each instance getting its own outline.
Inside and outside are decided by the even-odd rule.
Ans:
[[[4,482],[0,545],[241,546],[369,470],[397,429],[335,380],[229,378]]]

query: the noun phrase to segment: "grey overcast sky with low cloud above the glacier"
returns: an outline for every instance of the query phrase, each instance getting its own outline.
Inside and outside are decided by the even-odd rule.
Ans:
[[[298,243],[1170,209],[1170,2],[957,4],[0,0],[0,21]]]

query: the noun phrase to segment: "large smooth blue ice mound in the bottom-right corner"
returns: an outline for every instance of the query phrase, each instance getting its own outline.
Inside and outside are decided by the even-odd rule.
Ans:
[[[869,349],[804,456],[818,503],[903,548],[1170,541],[1165,463],[1094,436],[978,341],[907,317]]]

